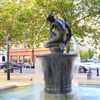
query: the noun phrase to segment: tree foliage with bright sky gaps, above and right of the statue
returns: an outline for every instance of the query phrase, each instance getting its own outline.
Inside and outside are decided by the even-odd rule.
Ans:
[[[77,42],[83,45],[84,37],[92,38],[91,45],[100,43],[100,7],[99,0],[36,0],[42,13],[54,12],[57,17],[65,20],[71,27]],[[45,15],[45,14],[44,14]],[[89,44],[89,45],[90,45]]]

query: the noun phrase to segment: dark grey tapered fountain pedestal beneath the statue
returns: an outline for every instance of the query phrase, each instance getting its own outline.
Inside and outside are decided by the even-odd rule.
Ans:
[[[45,91],[52,94],[69,94],[72,90],[72,67],[77,54],[44,54],[41,59]]]

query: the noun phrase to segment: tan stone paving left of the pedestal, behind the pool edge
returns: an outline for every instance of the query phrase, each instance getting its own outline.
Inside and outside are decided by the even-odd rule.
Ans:
[[[43,75],[37,73],[10,73],[10,80],[7,80],[7,73],[0,72],[0,90],[6,88],[32,85],[43,82]]]

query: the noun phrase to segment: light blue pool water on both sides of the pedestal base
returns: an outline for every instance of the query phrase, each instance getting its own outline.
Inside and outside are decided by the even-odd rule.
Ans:
[[[44,86],[38,84],[0,92],[0,100],[44,100],[42,99],[44,95],[43,89]],[[81,85],[75,89],[80,100],[100,100],[100,86]],[[45,100],[51,99],[46,97]]]

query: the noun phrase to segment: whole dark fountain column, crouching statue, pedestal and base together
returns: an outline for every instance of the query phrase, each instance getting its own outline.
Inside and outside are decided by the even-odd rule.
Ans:
[[[73,61],[77,54],[64,53],[72,36],[71,29],[61,19],[55,19],[52,13],[48,15],[47,20],[50,22],[51,39],[44,46],[50,49],[51,54],[37,55],[41,60],[45,81],[45,92],[41,100],[46,100],[47,97],[50,97],[50,100],[77,100],[72,90]]]

